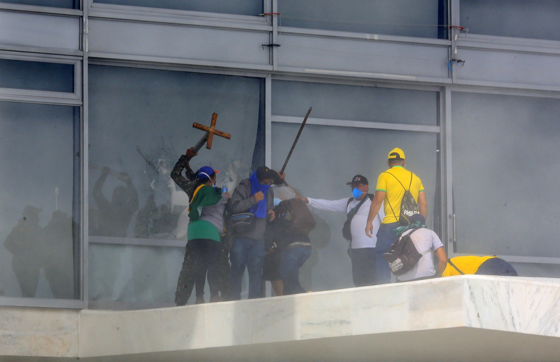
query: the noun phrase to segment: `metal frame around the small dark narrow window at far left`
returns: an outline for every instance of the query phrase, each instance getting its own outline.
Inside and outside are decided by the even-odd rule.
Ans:
[[[57,64],[73,64],[74,92],[37,91],[20,88],[0,88],[0,100],[40,104],[81,106],[82,105],[82,57],[57,54],[24,53],[0,50],[0,59],[27,60]]]

